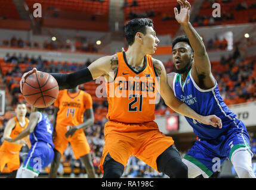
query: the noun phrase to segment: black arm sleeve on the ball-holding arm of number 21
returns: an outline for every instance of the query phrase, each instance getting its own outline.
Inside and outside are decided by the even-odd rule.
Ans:
[[[80,84],[84,84],[92,81],[92,75],[88,68],[81,69],[70,74],[63,73],[50,73],[53,75],[55,80],[58,83],[58,88],[62,89],[71,89],[75,88]]]

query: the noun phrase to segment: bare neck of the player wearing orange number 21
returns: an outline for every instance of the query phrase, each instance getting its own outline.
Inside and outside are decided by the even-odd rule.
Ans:
[[[127,52],[125,52],[125,56],[130,66],[144,66],[145,54],[137,46],[129,46]]]

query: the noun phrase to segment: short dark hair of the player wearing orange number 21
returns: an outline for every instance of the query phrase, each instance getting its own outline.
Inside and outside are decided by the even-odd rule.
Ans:
[[[125,38],[129,46],[134,43],[137,32],[146,34],[146,27],[153,27],[153,20],[150,18],[135,18],[125,24]]]

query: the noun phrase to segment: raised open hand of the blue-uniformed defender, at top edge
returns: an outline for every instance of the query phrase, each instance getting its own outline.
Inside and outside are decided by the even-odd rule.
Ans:
[[[186,0],[177,0],[178,4],[180,4],[180,13],[178,13],[178,9],[174,8],[175,19],[180,24],[188,24],[189,23],[189,10],[191,5]]]

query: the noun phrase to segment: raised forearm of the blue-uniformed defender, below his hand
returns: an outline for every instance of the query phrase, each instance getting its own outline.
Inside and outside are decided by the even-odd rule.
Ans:
[[[181,24],[181,26],[183,27],[185,33],[187,34],[187,37],[189,37],[190,45],[192,46],[195,54],[199,56],[205,55],[206,53],[205,45],[203,44],[201,36],[194,29],[192,24],[191,23]]]

